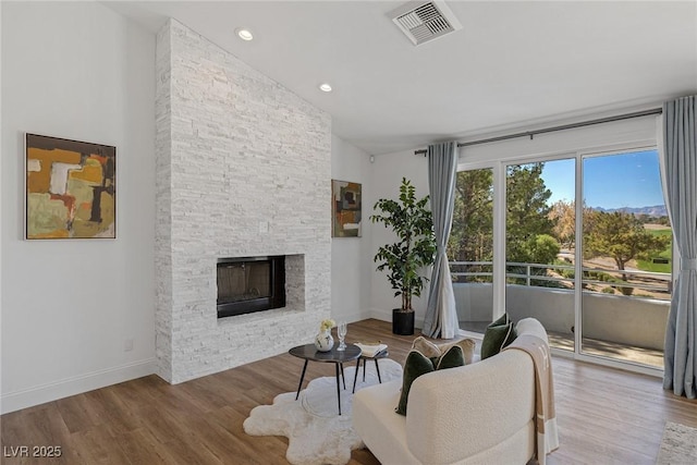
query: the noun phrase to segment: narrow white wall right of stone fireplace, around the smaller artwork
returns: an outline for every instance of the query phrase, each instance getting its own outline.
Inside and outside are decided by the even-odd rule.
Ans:
[[[331,178],[360,183],[363,216],[360,237],[331,240],[331,315],[337,321],[370,318],[372,262],[372,167],[370,156],[356,146],[332,135]]]

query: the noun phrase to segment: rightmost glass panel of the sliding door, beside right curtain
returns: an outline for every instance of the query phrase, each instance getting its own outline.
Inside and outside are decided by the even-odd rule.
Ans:
[[[580,352],[663,367],[672,231],[656,150],[583,159]]]

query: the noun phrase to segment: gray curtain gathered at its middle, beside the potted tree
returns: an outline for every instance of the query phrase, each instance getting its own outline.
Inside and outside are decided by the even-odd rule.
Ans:
[[[456,175],[457,143],[449,142],[428,146],[428,188],[438,246],[421,331],[429,338],[452,339],[460,329],[453,283],[445,254],[455,208]]]

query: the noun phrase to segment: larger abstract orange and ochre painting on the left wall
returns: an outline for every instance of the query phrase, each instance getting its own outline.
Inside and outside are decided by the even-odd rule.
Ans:
[[[117,148],[26,134],[25,237],[115,238]]]

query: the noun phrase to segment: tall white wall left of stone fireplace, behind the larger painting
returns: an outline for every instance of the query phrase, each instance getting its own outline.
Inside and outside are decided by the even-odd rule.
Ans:
[[[96,2],[1,8],[5,413],[154,371],[155,37]],[[115,240],[23,240],[24,132],[117,146]]]

